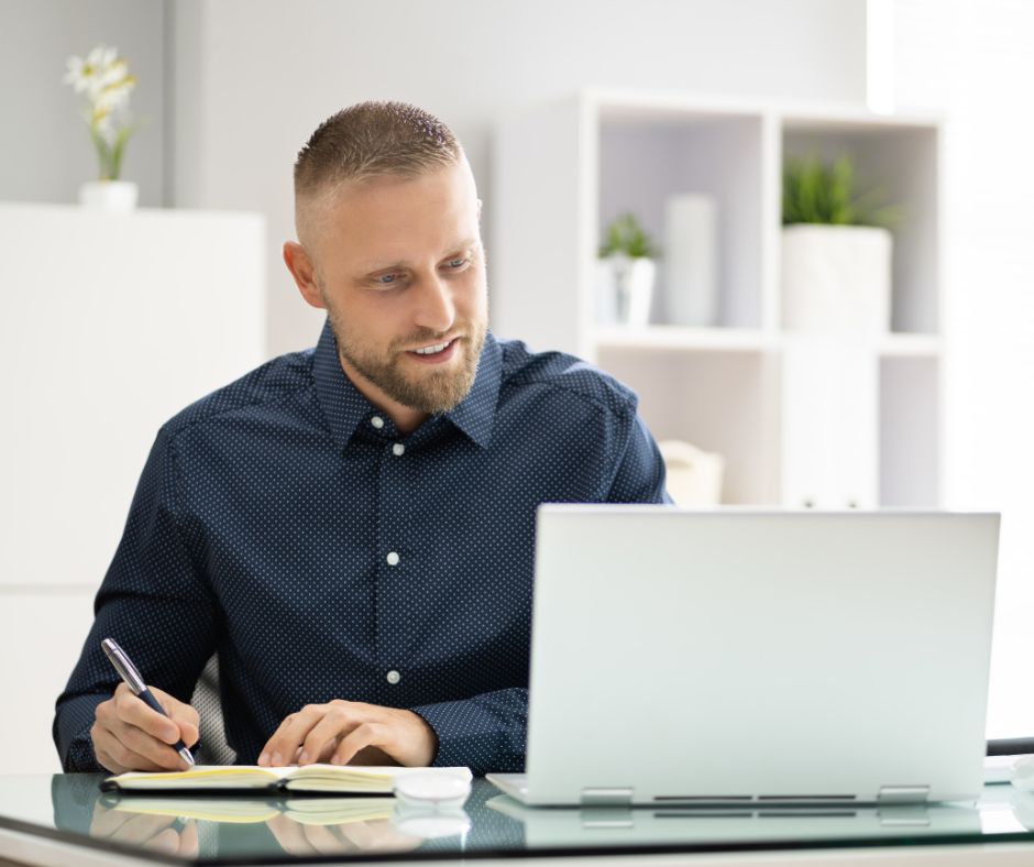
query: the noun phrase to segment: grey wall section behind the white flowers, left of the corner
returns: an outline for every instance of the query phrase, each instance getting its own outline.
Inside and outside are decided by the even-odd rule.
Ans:
[[[0,0],[0,201],[73,202],[97,177],[81,100],[62,78],[69,55],[103,42],[139,79],[122,176],[140,184],[141,205],[162,204],[164,15],[164,0]]]

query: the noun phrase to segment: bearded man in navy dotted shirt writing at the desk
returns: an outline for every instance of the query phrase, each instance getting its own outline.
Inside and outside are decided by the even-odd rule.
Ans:
[[[536,507],[664,500],[627,388],[488,333],[481,202],[444,124],[339,112],[295,197],[284,261],[328,323],[158,432],[57,701],[66,770],[183,767],[216,651],[241,761],[520,769]],[[118,684],[107,636],[167,718]]]

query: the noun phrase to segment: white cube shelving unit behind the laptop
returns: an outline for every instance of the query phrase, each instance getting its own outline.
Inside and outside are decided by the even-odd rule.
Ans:
[[[588,359],[635,388],[658,439],[726,458],[724,500],[813,507],[941,500],[941,150],[932,117],[587,91],[504,121],[495,140],[493,327]],[[901,208],[892,325],[827,341],[781,327],[787,155],[849,153]],[[663,238],[680,193],[718,208],[713,328],[597,325],[596,250],[634,212]],[[663,275],[657,295],[663,297]]]

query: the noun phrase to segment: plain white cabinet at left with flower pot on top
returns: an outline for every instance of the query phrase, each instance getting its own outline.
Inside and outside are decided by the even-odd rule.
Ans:
[[[265,228],[0,204],[0,767],[43,771],[158,427],[263,359]]]

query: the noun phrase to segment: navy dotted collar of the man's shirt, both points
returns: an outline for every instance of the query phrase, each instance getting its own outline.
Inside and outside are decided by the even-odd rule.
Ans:
[[[490,332],[481,351],[473,387],[463,400],[443,416],[482,448],[486,448],[492,439],[492,425],[495,420],[495,406],[503,372],[502,356],[503,351]],[[375,413],[375,408],[341,369],[338,341],[329,319],[323,323],[323,330],[316,345],[312,376],[316,380],[316,393],[327,422],[330,425],[334,445],[343,449],[355,432],[355,428]]]

